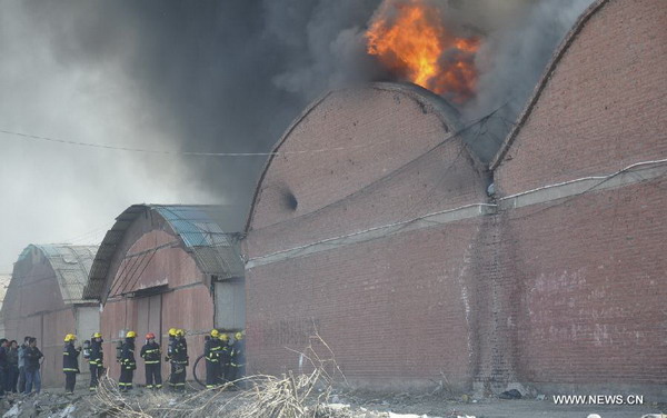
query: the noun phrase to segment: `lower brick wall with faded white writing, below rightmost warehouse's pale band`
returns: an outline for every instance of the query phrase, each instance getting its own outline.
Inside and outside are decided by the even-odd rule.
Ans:
[[[519,378],[667,384],[667,180],[512,211]]]

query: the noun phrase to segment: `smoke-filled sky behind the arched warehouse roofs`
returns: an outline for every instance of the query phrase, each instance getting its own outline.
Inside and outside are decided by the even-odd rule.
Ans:
[[[462,115],[475,119],[511,98],[505,116],[514,119],[591,0],[425,1],[484,37],[479,92]],[[0,0],[0,131],[173,152],[269,151],[325,90],[391,79],[366,53],[380,3]],[[478,147],[482,158],[507,127],[495,129]],[[1,132],[0,150],[0,271],[31,242],[99,242],[132,203],[229,203],[242,219],[266,159]]]

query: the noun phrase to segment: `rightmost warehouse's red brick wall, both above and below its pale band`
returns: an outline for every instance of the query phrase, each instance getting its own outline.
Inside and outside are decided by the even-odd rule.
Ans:
[[[496,169],[500,197],[667,157],[665,21],[661,0],[611,0],[593,14]],[[517,379],[667,382],[666,186],[663,177],[502,215]]]

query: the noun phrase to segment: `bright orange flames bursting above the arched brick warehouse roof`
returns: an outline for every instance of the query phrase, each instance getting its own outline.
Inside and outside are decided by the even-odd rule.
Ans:
[[[398,77],[462,103],[475,96],[479,38],[458,38],[438,8],[422,0],[386,1],[366,32],[367,52]]]

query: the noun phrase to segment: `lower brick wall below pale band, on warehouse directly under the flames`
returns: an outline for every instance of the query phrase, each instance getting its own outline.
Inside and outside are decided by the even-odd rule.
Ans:
[[[315,321],[346,377],[375,387],[469,384],[470,242],[478,221],[251,269],[252,371],[298,370]],[[461,245],[461,242],[464,245]],[[323,352],[320,351],[320,352]]]

